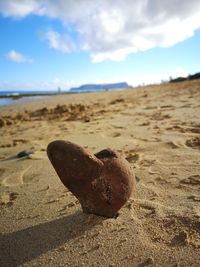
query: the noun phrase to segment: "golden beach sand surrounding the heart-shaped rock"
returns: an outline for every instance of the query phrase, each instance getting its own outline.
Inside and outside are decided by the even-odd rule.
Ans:
[[[199,266],[200,81],[52,96],[0,114],[1,267]],[[46,155],[59,139],[130,162],[137,190],[117,218],[82,212]]]

